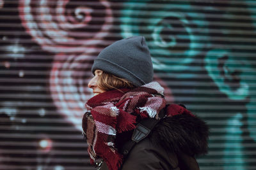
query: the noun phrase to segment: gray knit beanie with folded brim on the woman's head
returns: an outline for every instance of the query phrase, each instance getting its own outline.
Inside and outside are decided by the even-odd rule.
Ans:
[[[150,83],[154,74],[143,36],[121,39],[104,48],[94,60],[92,72],[96,69],[125,78],[137,87]]]

